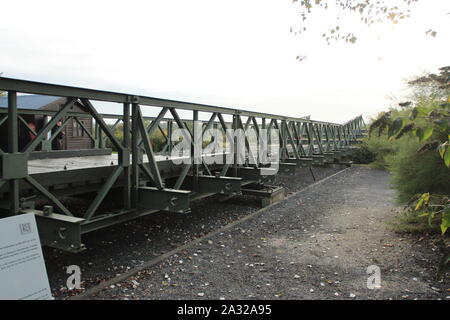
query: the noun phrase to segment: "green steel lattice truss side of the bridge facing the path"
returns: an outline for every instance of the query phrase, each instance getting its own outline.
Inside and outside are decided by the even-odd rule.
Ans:
[[[58,130],[62,130],[60,126],[55,131],[58,122],[62,122],[64,126],[68,119],[72,118],[80,123],[77,120],[78,117],[85,116],[85,114],[73,110],[75,102],[81,104],[95,121],[95,128],[92,131],[84,127],[82,122],[80,123],[82,130],[93,141],[94,146],[102,148],[106,139],[108,139],[117,150],[118,163],[114,166],[109,177],[105,179],[104,184],[98,189],[95,198],[81,217],[83,224],[105,219],[104,216],[98,214],[98,208],[119,178],[123,180],[124,192],[123,207],[118,212],[127,214],[139,209],[139,193],[143,181],[146,185],[154,188],[155,192],[173,192],[173,190],[182,190],[183,183],[187,177],[190,177],[193,180],[192,188],[195,190],[204,175],[217,179],[239,177],[239,171],[244,167],[254,168],[255,170],[263,167],[258,155],[255,155],[252,149],[255,141],[250,141],[247,136],[245,137],[245,163],[238,164],[235,158],[233,163],[225,163],[216,172],[203,160],[196,163],[194,161],[193,141],[198,138],[195,136],[198,133],[192,130],[192,126],[190,128],[189,123],[201,122],[201,134],[211,128],[219,128],[225,136],[228,135],[227,129],[241,129],[245,133],[253,131],[256,136],[256,143],[260,139],[259,132],[261,130],[265,129],[269,132],[277,130],[280,148],[278,161],[281,163],[288,159],[302,159],[326,153],[344,152],[363,134],[364,127],[362,116],[341,125],[315,121],[309,119],[309,117],[286,117],[236,108],[9,78],[0,78],[0,90],[7,91],[8,94],[8,108],[0,110],[0,126],[5,125],[8,128],[8,147],[6,150],[0,149],[0,189],[3,185],[7,185],[9,200],[7,215],[16,215],[21,212],[19,181],[24,180],[43,197],[47,198],[55,206],[58,213],[70,217],[74,216],[57,196],[28,174],[28,159],[29,154],[34,152],[38,146],[44,146],[45,141],[48,140],[51,142],[59,132]],[[17,106],[18,93],[50,95],[68,99],[58,111],[23,110],[18,109]],[[93,102],[95,101],[121,104],[120,114],[99,113],[94,107]],[[144,116],[144,108],[155,110],[157,116]],[[181,110],[184,114],[190,112],[191,117],[189,119],[182,118],[179,114]],[[206,116],[206,119],[200,120],[200,113]],[[44,115],[49,118],[49,121],[37,132],[27,126],[28,130],[35,135],[35,138],[19,150],[18,123],[25,122],[22,115],[26,114]],[[122,139],[118,139],[115,135],[119,123],[122,125]],[[163,123],[165,129],[162,128]],[[26,123],[24,124],[26,125]],[[176,142],[173,141],[171,134],[175,128],[184,129],[185,138],[187,141],[191,141],[192,148],[190,161],[183,165],[176,181],[168,187],[160,174],[157,155],[152,146],[152,135],[157,130],[163,134],[165,145],[162,151],[163,154],[169,155],[176,147]],[[234,139],[236,138],[228,137],[228,141],[234,141]],[[41,149],[47,151],[49,148],[51,149],[51,143],[47,142],[46,145]],[[230,146],[236,148],[237,143],[230,144]],[[145,158],[147,158],[147,161],[145,161]]]

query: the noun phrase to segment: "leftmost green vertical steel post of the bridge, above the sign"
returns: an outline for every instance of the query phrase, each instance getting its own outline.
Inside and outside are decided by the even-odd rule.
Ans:
[[[17,92],[8,91],[8,152],[19,152],[19,130],[17,116]],[[19,213],[19,180],[9,181],[9,210],[11,215]]]

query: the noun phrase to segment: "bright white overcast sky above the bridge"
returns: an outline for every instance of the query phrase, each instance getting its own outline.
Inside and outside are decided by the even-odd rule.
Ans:
[[[5,77],[323,121],[386,110],[388,97],[406,93],[406,78],[450,64],[448,0],[420,0],[395,27],[347,19],[357,43],[330,46],[320,35],[333,12],[311,17],[310,32],[295,37],[292,0],[14,0],[0,7]],[[436,38],[425,35],[430,28]],[[298,62],[299,54],[306,60]]]

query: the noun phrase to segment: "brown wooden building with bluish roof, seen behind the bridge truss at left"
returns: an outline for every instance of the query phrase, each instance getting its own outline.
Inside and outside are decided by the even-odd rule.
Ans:
[[[18,109],[24,110],[49,110],[58,111],[67,102],[67,98],[42,96],[42,95],[20,95],[17,96]],[[8,98],[0,97],[0,109],[5,110],[8,108]],[[6,110],[5,110],[6,111]],[[78,120],[84,125],[84,127],[93,135],[93,121],[92,116],[86,111],[85,107],[76,102],[73,107],[73,112],[85,113],[86,115],[78,117]],[[28,112],[29,113],[29,112]],[[35,132],[44,126],[49,120],[49,116],[39,114],[22,114],[19,111],[19,115],[24,119],[28,126],[32,127]],[[4,117],[4,113],[0,115],[0,119]],[[65,118],[62,119],[64,123]],[[59,135],[60,143],[52,145],[52,149],[59,150],[81,150],[91,149],[94,147],[94,143],[89,135],[85,132],[82,126],[72,117],[68,120],[64,128],[62,129],[62,135]],[[26,125],[19,121],[19,149],[21,150],[27,143],[34,138],[34,134],[26,127]],[[56,140],[56,139],[55,139]],[[7,121],[0,125],[0,148],[4,151],[8,148],[8,125]],[[41,150],[41,146],[38,146],[36,150]]]

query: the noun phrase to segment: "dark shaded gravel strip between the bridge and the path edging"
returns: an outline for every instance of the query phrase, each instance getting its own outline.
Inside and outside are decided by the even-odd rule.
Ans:
[[[313,168],[317,180],[341,170],[339,167]],[[279,176],[275,184],[291,194],[314,183],[309,169],[295,176]],[[81,202],[74,199],[74,202]],[[105,201],[107,202],[107,201]],[[82,287],[89,289],[105,280],[142,266],[174,248],[202,237],[233,221],[260,209],[254,197],[234,197],[225,202],[210,197],[191,204],[187,214],[160,212],[143,218],[89,233],[83,237],[87,250],[71,254],[44,248],[44,257],[53,296],[62,299],[80,293],[69,291],[66,269],[78,265],[82,272]],[[84,290],[81,290],[83,292]]]

